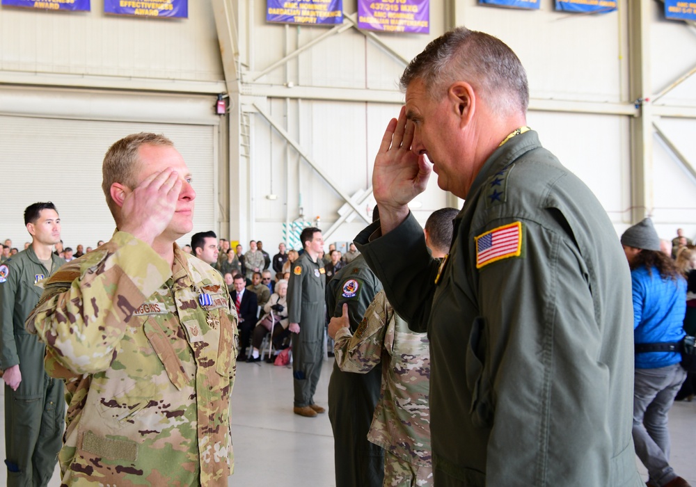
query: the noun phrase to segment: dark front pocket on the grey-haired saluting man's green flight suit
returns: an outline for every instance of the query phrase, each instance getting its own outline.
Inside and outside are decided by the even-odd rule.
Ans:
[[[475,426],[493,426],[491,384],[485,376],[486,319],[474,319],[466,346],[466,385],[471,391],[469,414]]]

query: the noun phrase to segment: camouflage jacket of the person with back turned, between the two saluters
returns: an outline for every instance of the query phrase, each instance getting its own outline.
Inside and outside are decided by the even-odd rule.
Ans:
[[[432,466],[430,448],[430,351],[425,333],[409,330],[383,291],[365,311],[355,335],[336,333],[338,367],[365,374],[381,362],[381,394],[367,439],[414,465]]]

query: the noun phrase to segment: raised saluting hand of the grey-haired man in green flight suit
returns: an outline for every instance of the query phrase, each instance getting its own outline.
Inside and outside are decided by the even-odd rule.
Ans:
[[[372,170],[372,193],[379,207],[382,232],[386,233],[404,221],[413,198],[425,191],[432,172],[425,155],[412,150],[413,122],[406,120],[402,106],[399,120],[387,125]]]

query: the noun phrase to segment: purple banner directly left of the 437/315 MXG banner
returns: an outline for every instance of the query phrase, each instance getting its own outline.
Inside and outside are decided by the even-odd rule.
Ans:
[[[268,0],[266,22],[303,25],[343,23],[343,0]]]

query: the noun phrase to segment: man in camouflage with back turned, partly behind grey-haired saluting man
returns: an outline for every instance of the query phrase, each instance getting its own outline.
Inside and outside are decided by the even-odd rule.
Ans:
[[[435,211],[425,223],[432,256],[445,256],[457,209]],[[358,256],[351,265],[363,261]],[[349,305],[329,323],[336,364],[344,372],[372,374],[381,368],[381,394],[367,439],[385,450],[385,486],[432,486],[430,449],[430,351],[425,333],[414,333],[379,292],[357,329]],[[348,312],[348,313],[347,313]],[[355,330],[355,331],[354,331]],[[331,410],[329,410],[331,412]],[[338,460],[337,460],[338,461]]]

